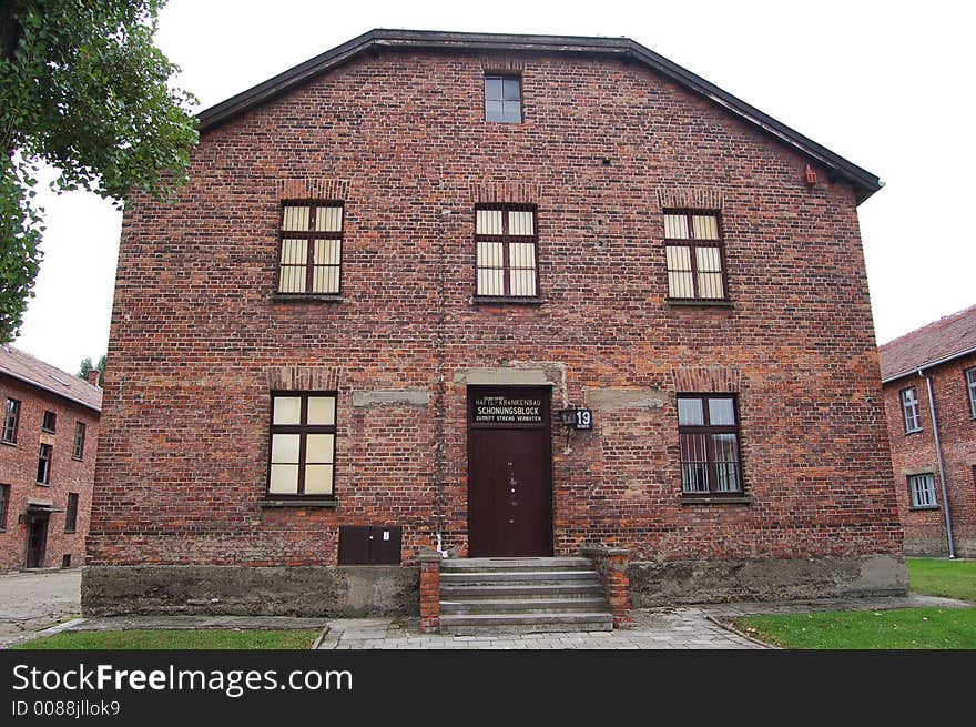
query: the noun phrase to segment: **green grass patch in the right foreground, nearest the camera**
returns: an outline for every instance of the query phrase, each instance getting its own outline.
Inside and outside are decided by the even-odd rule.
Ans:
[[[976,649],[976,608],[897,608],[748,616],[739,630],[784,648]]]

